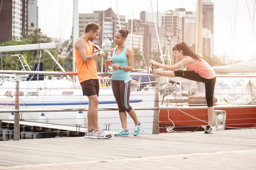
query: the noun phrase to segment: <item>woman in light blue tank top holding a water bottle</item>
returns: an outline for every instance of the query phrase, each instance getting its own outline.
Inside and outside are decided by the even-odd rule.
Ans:
[[[135,123],[134,136],[140,134],[141,123],[138,121],[136,112],[129,105],[131,92],[131,77],[129,71],[133,70],[134,54],[132,49],[125,46],[124,42],[129,34],[128,29],[120,29],[115,35],[116,48],[110,49],[113,59],[113,73],[111,78],[113,94],[118,105],[119,116],[121,119],[122,130],[115,136],[129,136],[127,129],[126,112],[131,116]],[[110,61],[106,61],[106,68],[111,65]],[[110,69],[108,69],[110,71]]]

